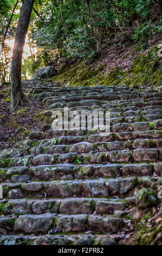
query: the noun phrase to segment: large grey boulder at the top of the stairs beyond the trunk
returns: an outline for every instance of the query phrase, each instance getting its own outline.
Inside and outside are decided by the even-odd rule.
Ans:
[[[33,80],[41,80],[49,77],[55,76],[57,71],[53,66],[44,66],[41,69],[38,69],[33,77]]]

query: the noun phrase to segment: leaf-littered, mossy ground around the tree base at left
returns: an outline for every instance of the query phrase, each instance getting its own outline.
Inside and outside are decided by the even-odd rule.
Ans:
[[[9,85],[0,89],[0,150],[2,150],[14,147],[18,139],[25,139],[31,131],[39,130],[41,123],[34,117],[45,107],[40,104],[40,100],[35,100],[25,103],[11,113]]]

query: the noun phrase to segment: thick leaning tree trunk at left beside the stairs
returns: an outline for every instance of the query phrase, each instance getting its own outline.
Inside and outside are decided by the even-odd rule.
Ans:
[[[11,65],[11,111],[14,111],[17,106],[21,106],[24,102],[30,101],[30,99],[22,91],[21,67],[23,48],[33,5],[34,0],[23,0],[16,30]]]

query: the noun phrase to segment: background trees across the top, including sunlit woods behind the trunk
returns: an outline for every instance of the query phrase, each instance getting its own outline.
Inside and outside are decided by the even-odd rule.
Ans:
[[[15,3],[0,0],[0,43]],[[21,4],[9,38],[15,36]],[[161,32],[161,7],[160,0],[35,0],[28,29],[32,54],[23,61],[23,78],[33,77],[44,65],[74,59],[89,62],[114,41],[119,45],[135,41],[145,50],[147,41]],[[3,60],[0,76],[2,64]]]

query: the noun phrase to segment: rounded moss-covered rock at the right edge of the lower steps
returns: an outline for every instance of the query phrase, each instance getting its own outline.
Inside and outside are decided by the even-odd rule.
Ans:
[[[157,193],[150,188],[142,188],[137,192],[135,203],[139,209],[148,209],[153,205],[158,204]]]

